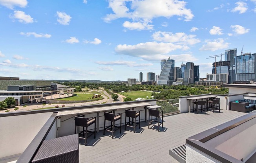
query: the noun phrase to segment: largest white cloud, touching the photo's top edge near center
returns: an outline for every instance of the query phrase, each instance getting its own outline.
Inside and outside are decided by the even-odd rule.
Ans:
[[[152,25],[148,23],[157,17],[178,16],[179,19],[184,18],[185,21],[190,21],[194,17],[192,11],[186,8],[186,2],[179,0],[108,0],[108,2],[108,7],[113,13],[107,14],[103,18],[104,21],[111,22],[118,18],[129,18],[133,22],[126,22],[123,26],[131,29],[151,29]]]

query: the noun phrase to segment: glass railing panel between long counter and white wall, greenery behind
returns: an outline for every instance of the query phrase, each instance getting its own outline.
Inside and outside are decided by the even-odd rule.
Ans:
[[[156,104],[161,106],[160,110],[163,110],[164,114],[172,114],[179,112],[179,99],[160,100],[156,101]]]

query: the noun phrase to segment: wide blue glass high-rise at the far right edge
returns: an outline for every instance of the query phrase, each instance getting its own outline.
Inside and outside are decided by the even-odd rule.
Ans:
[[[236,80],[256,82],[256,54],[245,53],[236,56]]]

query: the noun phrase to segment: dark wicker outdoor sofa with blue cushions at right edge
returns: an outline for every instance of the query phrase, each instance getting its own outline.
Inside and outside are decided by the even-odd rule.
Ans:
[[[256,100],[251,99],[240,99],[235,101],[230,101],[229,110],[234,110],[238,112],[249,112],[255,109]]]

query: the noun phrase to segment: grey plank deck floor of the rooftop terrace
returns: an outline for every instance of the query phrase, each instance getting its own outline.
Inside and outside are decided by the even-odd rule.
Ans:
[[[100,131],[96,139],[89,137],[88,146],[84,146],[84,141],[80,140],[80,163],[176,163],[169,155],[169,149],[185,144],[186,138],[190,136],[245,114],[247,113],[221,110],[221,113],[208,111],[207,114],[191,112],[165,116],[164,128],[160,132],[148,129],[147,123],[143,121],[142,128],[137,128],[137,133],[127,129],[124,131],[123,127],[121,134],[119,130],[114,134],[117,136],[114,139],[110,137],[110,132],[103,136]]]

